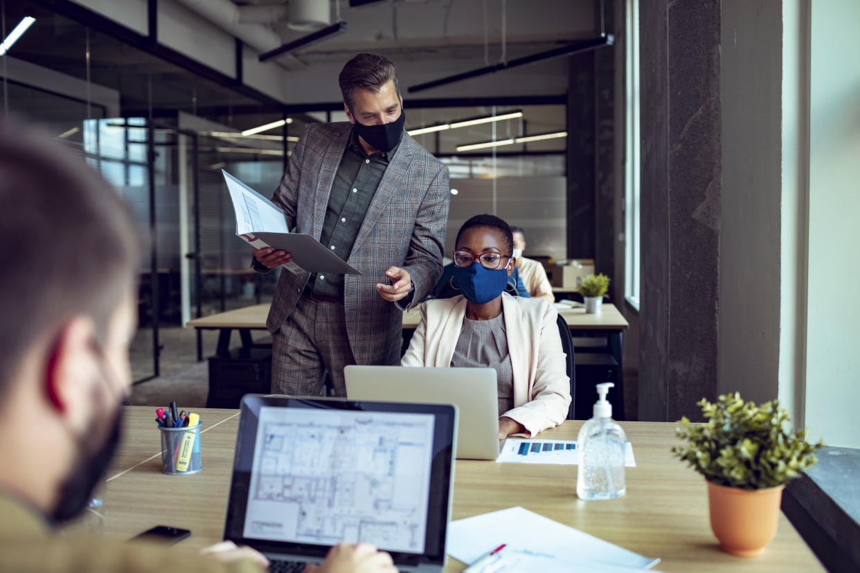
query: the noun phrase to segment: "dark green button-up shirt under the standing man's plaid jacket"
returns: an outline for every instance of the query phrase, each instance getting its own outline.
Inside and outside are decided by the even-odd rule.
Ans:
[[[365,220],[367,208],[370,207],[385,169],[388,168],[390,156],[396,151],[395,147],[388,153],[365,155],[353,128],[349,144],[335,173],[320,235],[320,242],[343,260],[349,259],[349,254],[353,252],[353,245],[359,235],[361,223]],[[310,284],[313,285],[315,295],[343,294],[343,275],[317,273],[310,277]]]

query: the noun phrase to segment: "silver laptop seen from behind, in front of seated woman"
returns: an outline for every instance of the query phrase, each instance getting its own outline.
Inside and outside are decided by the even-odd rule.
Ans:
[[[347,366],[343,373],[347,399],[457,405],[457,457],[495,460],[499,456],[499,400],[494,369]]]

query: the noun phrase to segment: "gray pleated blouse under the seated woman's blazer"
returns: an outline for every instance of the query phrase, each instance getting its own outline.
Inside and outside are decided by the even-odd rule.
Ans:
[[[507,353],[504,314],[500,313],[490,320],[469,320],[464,317],[451,366],[495,369],[499,416],[513,408],[513,369],[511,357]]]

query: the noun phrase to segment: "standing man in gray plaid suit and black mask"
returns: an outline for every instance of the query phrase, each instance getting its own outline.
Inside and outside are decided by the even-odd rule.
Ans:
[[[403,131],[395,65],[359,54],[339,78],[349,122],[308,125],[273,202],[360,275],[283,271],[267,319],[272,392],[320,395],[328,372],[346,396],[347,364],[400,361],[402,311],[442,272],[448,168]],[[290,253],[254,250],[267,272]]]

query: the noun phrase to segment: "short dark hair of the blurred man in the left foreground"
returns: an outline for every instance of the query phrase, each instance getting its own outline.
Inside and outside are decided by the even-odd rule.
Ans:
[[[135,223],[107,181],[24,125],[0,124],[0,397],[21,358],[77,314],[103,340],[132,286]]]

